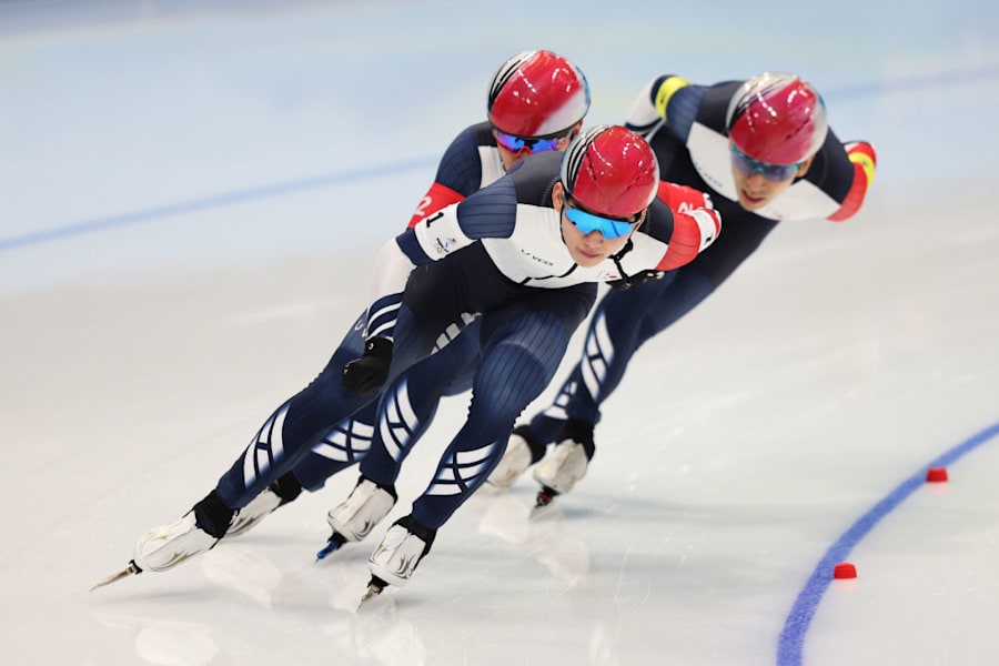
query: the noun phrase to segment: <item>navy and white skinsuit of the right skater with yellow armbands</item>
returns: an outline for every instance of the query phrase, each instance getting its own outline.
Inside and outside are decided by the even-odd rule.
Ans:
[[[662,77],[656,83],[668,79]],[[534,448],[561,440],[567,421],[595,425],[601,404],[617,389],[635,352],[649,339],[690,312],[707,299],[750,255],[778,220],[749,212],[739,203],[712,186],[695,168],[689,143],[690,130],[698,123],[727,141],[725,115],[728,103],[741,81],[712,87],[686,85],[670,100],[666,119],[646,127],[628,127],[646,139],[659,160],[660,178],[705,191],[722,213],[724,232],[718,240],[690,263],[667,273],[662,280],[645,282],[628,291],[609,291],[597,304],[587,331],[587,344],[579,363],[562,385],[553,405],[536,414],[531,423]],[[656,85],[652,93],[655,94]],[[712,145],[712,150],[724,150]],[[808,195],[842,201],[855,175],[842,143],[830,130],[807,174],[791,188],[808,189]],[[725,178],[725,174],[722,175]],[[730,176],[728,176],[730,178]],[[784,196],[784,195],[781,195]],[[821,214],[813,215],[821,218]],[[589,344],[604,329],[612,343]],[[588,355],[587,355],[588,354]],[[599,369],[594,372],[593,369]],[[606,369],[606,370],[604,370]],[[588,380],[588,381],[587,381]],[[535,456],[538,452],[535,451]]]

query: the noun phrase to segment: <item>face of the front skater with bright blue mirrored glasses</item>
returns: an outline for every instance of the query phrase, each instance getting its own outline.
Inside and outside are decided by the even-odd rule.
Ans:
[[[642,222],[645,211],[630,219],[597,215],[587,211],[556,183],[552,192],[555,210],[562,213],[562,238],[573,261],[588,269],[616,254]]]

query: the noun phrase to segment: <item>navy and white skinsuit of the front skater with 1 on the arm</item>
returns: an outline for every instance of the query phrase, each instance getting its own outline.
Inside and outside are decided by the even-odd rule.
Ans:
[[[380,405],[380,421],[397,436],[385,443],[389,446],[384,451],[373,444],[365,475],[385,484],[394,481],[412,443],[433,417],[440,397],[456,375],[474,372],[468,418],[450,443],[427,492],[413,505],[413,517],[424,527],[434,529],[443,524],[498,462],[514,420],[547,386],[573,332],[593,306],[596,275],[612,281],[625,271],[635,274],[654,269],[668,250],[673,212],[655,201],[640,232],[633,235],[634,246],[640,246],[640,252],[632,252],[633,242],[628,241],[613,258],[613,264],[610,260],[604,262],[607,266],[578,269],[567,260],[568,265],[559,264],[553,275],[541,275],[538,271],[547,271],[549,264],[538,263],[537,256],[548,252],[568,258],[558,233],[548,232],[539,236],[548,245],[539,248],[537,256],[514,252],[529,256],[523,260],[525,263],[535,262],[528,269],[534,271],[533,276],[517,282],[502,273],[483,243],[493,240],[502,245],[506,239],[523,239],[525,233],[533,238],[531,234],[538,233],[535,230],[543,224],[557,229],[562,215],[552,209],[552,188],[558,180],[559,161],[558,153],[532,155],[519,169],[451,206],[452,218],[472,244],[443,259],[432,261],[414,240],[415,231],[428,229],[432,220],[394,241],[417,264],[401,296],[392,332],[391,373]],[[518,233],[522,229],[526,232]],[[653,265],[645,265],[652,254],[656,256]],[[564,282],[551,287],[551,279]],[[431,354],[440,332],[465,313],[480,316],[477,329],[466,330],[454,343]],[[359,355],[357,335],[352,330],[322,373],[265,421],[215,487],[225,506],[245,506],[300,463],[334,424],[371,401],[342,385],[344,364]],[[464,364],[461,370],[453,365],[455,360]],[[437,366],[448,370],[438,372]],[[393,426],[393,410],[401,405],[405,410]]]

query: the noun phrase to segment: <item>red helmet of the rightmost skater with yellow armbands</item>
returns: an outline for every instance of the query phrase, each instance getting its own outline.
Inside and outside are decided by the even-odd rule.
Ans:
[[[814,155],[829,129],[818,91],[795,74],[773,72],[743,83],[725,124],[736,148],[769,164],[797,164]]]

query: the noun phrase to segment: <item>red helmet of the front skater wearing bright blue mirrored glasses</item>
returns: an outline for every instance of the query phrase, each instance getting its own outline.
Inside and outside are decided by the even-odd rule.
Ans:
[[[648,142],[620,125],[597,125],[562,155],[568,194],[595,213],[628,218],[647,209],[659,186],[659,163]]]

